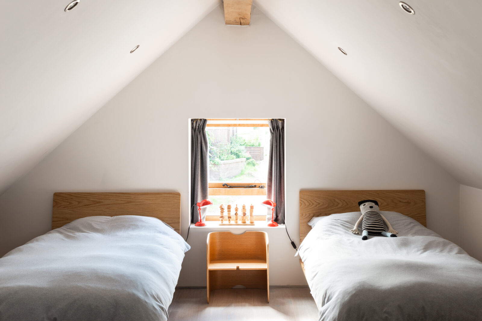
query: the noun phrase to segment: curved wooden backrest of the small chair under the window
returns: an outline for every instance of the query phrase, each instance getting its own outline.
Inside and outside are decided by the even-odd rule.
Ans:
[[[268,234],[248,231],[241,235],[231,232],[208,234],[208,258],[216,259],[263,259],[266,260]]]

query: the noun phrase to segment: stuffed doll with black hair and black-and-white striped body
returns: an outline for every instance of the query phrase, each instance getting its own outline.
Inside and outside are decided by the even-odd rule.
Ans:
[[[378,202],[373,199],[365,199],[358,202],[362,216],[358,219],[355,226],[350,230],[353,234],[360,234],[358,232],[358,226],[362,223],[362,240],[368,239],[368,235],[384,235],[388,237],[397,237],[398,232],[395,231],[387,219],[380,214],[378,208]],[[388,232],[385,228],[387,224]]]

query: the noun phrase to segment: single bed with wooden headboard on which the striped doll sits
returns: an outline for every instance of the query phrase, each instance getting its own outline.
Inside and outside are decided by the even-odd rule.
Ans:
[[[398,237],[350,233],[363,199]],[[482,263],[425,225],[422,190],[300,191],[300,263],[319,320],[482,320]]]

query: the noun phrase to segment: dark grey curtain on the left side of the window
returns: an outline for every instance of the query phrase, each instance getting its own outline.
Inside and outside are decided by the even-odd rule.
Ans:
[[[191,222],[199,221],[199,211],[193,204],[208,198],[208,137],[207,119],[191,119]],[[201,209],[202,220],[206,209]]]

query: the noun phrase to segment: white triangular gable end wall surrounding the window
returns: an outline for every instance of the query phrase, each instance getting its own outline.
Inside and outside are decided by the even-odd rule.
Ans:
[[[425,189],[428,227],[458,242],[459,184],[449,174],[258,9],[251,26],[233,27],[216,8],[1,196],[0,254],[50,229],[55,191],[179,191],[186,236],[190,117],[286,118],[296,244],[300,189]],[[305,284],[276,231],[271,284]],[[181,286],[205,284],[206,233],[191,229]]]

